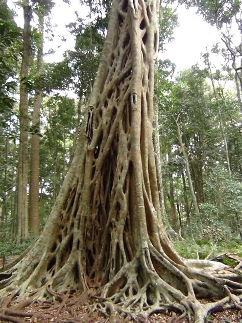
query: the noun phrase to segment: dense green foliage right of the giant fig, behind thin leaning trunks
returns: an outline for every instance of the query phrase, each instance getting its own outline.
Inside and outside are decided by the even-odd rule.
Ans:
[[[239,234],[241,221],[241,184],[238,174],[241,169],[239,155],[242,144],[241,137],[238,136],[238,104],[230,93],[222,93],[219,89],[221,116],[229,143],[230,163],[233,165],[231,177],[227,168],[217,101],[207,82],[207,70],[201,70],[195,65],[182,71],[176,81],[167,80],[167,76],[172,73],[171,64],[158,65],[156,96],[162,153],[169,156],[168,160],[164,160],[162,170],[166,211],[169,213],[171,207],[169,183],[172,176],[182,234],[193,234],[200,239],[213,237],[215,241],[228,240],[232,234]],[[224,78],[219,72],[215,74],[219,81]],[[200,217],[193,212],[190,204],[191,194],[186,179],[185,201],[182,176],[186,177],[186,169],[174,122],[177,116],[188,156],[192,185],[200,205]]]

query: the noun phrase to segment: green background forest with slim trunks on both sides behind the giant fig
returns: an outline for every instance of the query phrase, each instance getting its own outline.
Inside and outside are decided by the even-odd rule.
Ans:
[[[160,202],[181,255],[212,259],[238,251],[242,238],[241,44],[231,34],[234,24],[242,30],[239,1],[161,2],[160,53],[173,39],[181,4],[196,7],[221,42],[211,52],[204,48],[203,66],[177,73],[172,61],[157,62]],[[9,1],[0,0],[0,252],[7,257],[28,247],[46,223],[75,151],[106,35],[110,1],[80,0],[87,16],[77,12],[67,26],[75,49],[47,63],[52,49],[45,42],[56,37],[54,6],[52,0],[16,2],[25,22],[20,28]]]

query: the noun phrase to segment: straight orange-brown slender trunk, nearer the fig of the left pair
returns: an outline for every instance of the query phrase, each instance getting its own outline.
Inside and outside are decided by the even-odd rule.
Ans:
[[[37,75],[43,71],[43,32],[44,19],[39,13],[39,47],[37,54]],[[42,105],[41,89],[36,89],[34,97],[34,110],[32,117],[32,140],[30,155],[30,198],[29,198],[29,221],[30,234],[37,238],[39,235],[39,149],[40,149],[40,110]]]

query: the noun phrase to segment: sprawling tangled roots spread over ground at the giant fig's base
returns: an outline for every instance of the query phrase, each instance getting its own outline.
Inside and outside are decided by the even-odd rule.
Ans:
[[[193,262],[193,265],[195,264]],[[200,261],[198,265],[201,267],[202,262]],[[84,315],[88,317],[94,315],[94,312],[101,312],[108,316],[110,321],[114,321],[118,314],[119,317],[145,321],[152,313],[175,312],[178,318],[188,316],[196,323],[200,323],[205,321],[208,314],[217,310],[231,307],[241,310],[241,275],[232,273],[233,270],[225,266],[224,270],[219,269],[217,278],[216,263],[210,262],[211,266],[214,267],[213,275],[202,269],[177,265],[164,254],[157,252],[150,243],[148,249],[142,250],[140,255],[137,254],[132,261],[126,262],[104,286],[90,284],[88,286],[87,279],[81,273],[78,280],[69,279],[66,282],[66,285],[72,283],[72,286],[62,292],[56,292],[55,289],[61,290],[61,286],[63,287],[56,285],[58,281],[56,277],[57,281],[53,281],[52,284],[49,281],[41,288],[32,291],[27,301],[15,306],[14,309],[9,308],[9,305],[21,294],[21,290],[5,298],[0,318],[19,322],[17,316],[26,316],[32,317],[32,321],[34,319],[41,321],[41,311],[44,311],[45,317],[49,315],[50,319],[53,316],[58,319],[65,308],[77,321],[80,320],[80,311],[82,319]],[[63,281],[59,282],[63,284]],[[80,282],[82,287],[85,286],[82,291]],[[221,301],[203,304],[199,302],[197,296],[223,298]],[[46,304],[46,299],[49,299],[50,304]],[[39,313],[24,312],[24,308],[31,302],[39,302]]]

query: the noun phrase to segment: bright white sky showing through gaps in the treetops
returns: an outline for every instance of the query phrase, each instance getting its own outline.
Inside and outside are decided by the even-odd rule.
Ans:
[[[8,4],[10,8],[14,8],[13,0],[8,0]],[[83,18],[87,12],[86,8],[79,4],[79,0],[71,0],[71,6],[56,0],[56,6],[53,8],[51,16],[51,24],[56,25],[53,30],[54,40],[46,40],[45,42],[45,52],[53,48],[55,53],[45,56],[45,61],[61,61],[65,50],[74,49],[75,39],[68,32],[66,25],[75,21],[75,11]],[[16,21],[19,25],[22,25],[21,11],[18,12],[19,17]],[[210,26],[200,15],[196,14],[196,8],[186,9],[185,6],[179,6],[178,22],[179,27],[175,29],[174,40],[166,46],[166,52],[159,55],[161,59],[168,58],[174,62],[177,66],[177,72],[196,63],[202,65],[201,53],[206,51],[206,46],[211,49],[212,45],[220,39],[216,28]],[[62,36],[66,41],[61,40]]]

